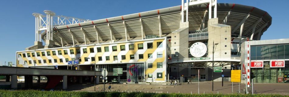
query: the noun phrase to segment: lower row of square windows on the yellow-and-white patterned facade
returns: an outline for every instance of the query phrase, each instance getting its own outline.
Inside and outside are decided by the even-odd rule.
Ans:
[[[152,54],[148,54],[148,58],[152,58],[151,55]],[[144,59],[144,54],[139,54],[138,58]],[[162,52],[157,53],[157,58],[162,58]],[[126,59],[125,55],[121,55],[121,60],[125,60],[125,59]],[[134,55],[130,55],[130,59],[134,59]],[[72,60],[75,60],[75,59],[72,58]],[[91,60],[95,60],[95,57],[91,57]],[[106,61],[110,60],[110,56],[105,56],[105,60]],[[117,56],[113,56],[113,60],[118,60]],[[79,59],[79,61],[81,62],[82,60]],[[85,62],[88,61],[88,58],[85,57],[84,61]],[[98,57],[98,61],[102,61],[102,57]],[[63,59],[59,59],[59,62],[63,62]],[[65,59],[65,62],[68,62],[68,58]],[[25,63],[27,63],[27,61],[25,61]],[[41,63],[41,60],[38,60],[38,63]],[[46,60],[43,60],[43,63],[47,63]],[[48,63],[51,63],[51,59],[48,59]],[[54,59],[54,63],[57,63],[57,59]],[[32,64],[32,62],[29,61],[29,64]]]

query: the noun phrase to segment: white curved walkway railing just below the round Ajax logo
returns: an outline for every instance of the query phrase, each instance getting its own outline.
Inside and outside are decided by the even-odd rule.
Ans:
[[[214,60],[235,60],[235,61],[240,61],[240,57],[214,57]],[[200,60],[208,60],[211,61],[212,58],[209,57],[200,57],[200,58],[184,58],[184,59],[179,59],[179,62],[184,62],[184,61],[200,61]],[[168,60],[168,62],[178,62],[177,59],[172,59]]]

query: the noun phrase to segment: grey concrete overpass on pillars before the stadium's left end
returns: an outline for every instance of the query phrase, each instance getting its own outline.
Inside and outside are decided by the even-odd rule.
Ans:
[[[82,82],[82,76],[96,75],[96,83],[99,83],[99,76],[101,71],[87,71],[87,70],[66,70],[66,69],[39,69],[39,68],[24,68],[24,67],[7,67],[0,66],[0,75],[6,75],[6,78],[11,76],[11,88],[17,88],[17,76],[25,76],[25,87],[32,88],[32,76],[46,76],[47,84],[45,89],[54,88],[61,80],[63,80],[63,89],[67,89],[68,76],[78,76],[78,81]],[[112,76],[112,72],[108,72],[107,76]],[[92,77],[93,80],[93,77]],[[72,81],[72,82],[73,82]],[[6,79],[9,82],[9,79]],[[40,80],[39,80],[40,82]]]

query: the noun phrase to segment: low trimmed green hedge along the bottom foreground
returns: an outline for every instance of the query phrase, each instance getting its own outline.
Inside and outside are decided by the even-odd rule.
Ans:
[[[67,92],[37,90],[0,90],[0,97],[289,97],[286,95],[241,95],[241,94],[177,94],[144,92]]]

